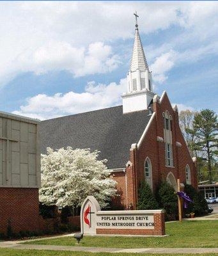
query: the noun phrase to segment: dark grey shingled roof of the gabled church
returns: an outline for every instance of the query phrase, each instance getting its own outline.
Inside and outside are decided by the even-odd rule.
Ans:
[[[132,143],[137,143],[150,120],[149,111],[123,115],[123,106],[105,108],[40,122],[42,154],[46,148],[100,150],[108,168],[125,166]]]

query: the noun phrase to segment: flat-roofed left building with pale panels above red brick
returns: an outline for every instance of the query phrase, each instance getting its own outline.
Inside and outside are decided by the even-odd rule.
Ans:
[[[0,232],[39,228],[38,121],[0,113]]]

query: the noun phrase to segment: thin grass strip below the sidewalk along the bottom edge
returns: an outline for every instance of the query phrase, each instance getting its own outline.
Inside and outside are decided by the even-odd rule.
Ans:
[[[15,249],[1,249],[1,256],[172,256],[172,254],[150,254],[150,253],[90,253],[90,252],[61,252],[49,250],[15,250]],[[201,253],[198,256],[215,256],[215,253]],[[176,256],[184,256],[183,254],[176,254]],[[185,254],[185,256],[196,256],[194,253]]]

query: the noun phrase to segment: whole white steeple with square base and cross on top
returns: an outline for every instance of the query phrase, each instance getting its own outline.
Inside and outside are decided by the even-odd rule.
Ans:
[[[147,109],[152,98],[152,72],[144,55],[143,45],[139,36],[136,16],[136,32],[132,51],[130,70],[127,73],[127,93],[122,95],[123,113]]]

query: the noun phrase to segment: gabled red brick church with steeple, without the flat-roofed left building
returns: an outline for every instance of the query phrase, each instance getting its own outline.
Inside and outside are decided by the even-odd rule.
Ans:
[[[136,209],[137,188],[146,180],[153,191],[161,180],[176,189],[177,179],[197,187],[195,159],[182,136],[178,108],[167,93],[153,92],[136,22],[123,104],[40,122],[41,152],[46,148],[91,148],[107,159],[120,193],[120,204]]]

